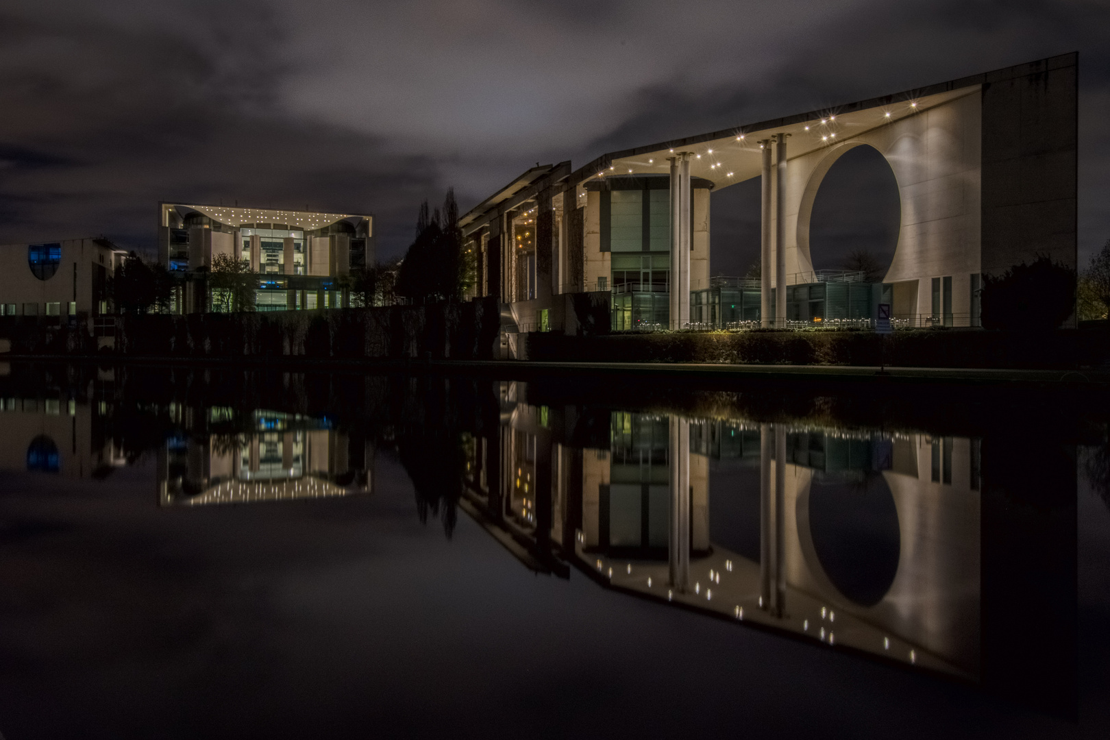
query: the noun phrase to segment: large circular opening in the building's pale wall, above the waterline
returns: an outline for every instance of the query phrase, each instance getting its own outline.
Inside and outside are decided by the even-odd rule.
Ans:
[[[901,199],[882,154],[866,144],[845,152],[821,180],[809,219],[814,270],[867,273],[882,280],[898,246]]]

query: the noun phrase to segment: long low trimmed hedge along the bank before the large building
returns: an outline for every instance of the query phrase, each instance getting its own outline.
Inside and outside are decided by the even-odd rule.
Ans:
[[[527,357],[569,362],[758,365],[1071,368],[1108,359],[1110,334],[904,330],[882,337],[858,330],[656,332],[605,336],[527,335]]]

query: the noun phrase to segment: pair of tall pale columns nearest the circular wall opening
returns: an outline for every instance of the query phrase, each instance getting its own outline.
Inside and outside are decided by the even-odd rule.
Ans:
[[[771,139],[759,142],[763,148],[763,172],[760,192],[760,249],[759,249],[759,323],[761,326],[786,326],[786,230],[784,209],[786,205],[786,138],[790,134],[777,133]],[[771,143],[775,144],[775,197],[771,197]],[[771,220],[771,203],[775,217]],[[774,229],[771,225],[774,224]],[[774,232],[774,234],[771,233]],[[771,256],[775,259],[775,305],[771,307]],[[771,322],[774,311],[775,321]]]

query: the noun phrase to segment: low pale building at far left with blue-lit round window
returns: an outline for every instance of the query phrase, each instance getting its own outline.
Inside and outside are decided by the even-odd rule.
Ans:
[[[127,252],[105,239],[0,246],[0,316],[109,313],[108,278]]]

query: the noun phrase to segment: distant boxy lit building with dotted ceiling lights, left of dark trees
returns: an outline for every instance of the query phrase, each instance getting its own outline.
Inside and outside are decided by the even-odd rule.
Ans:
[[[206,275],[220,254],[258,273],[259,311],[347,305],[336,277],[374,264],[373,216],[160,203],[158,260],[179,281],[171,311],[210,310]]]

